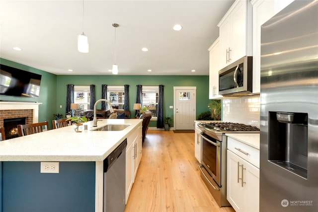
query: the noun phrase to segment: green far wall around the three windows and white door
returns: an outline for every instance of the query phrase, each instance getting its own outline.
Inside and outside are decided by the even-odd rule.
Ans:
[[[131,115],[135,115],[132,109],[136,103],[137,86],[164,85],[163,87],[163,113],[173,119],[173,86],[196,86],[196,117],[204,111],[208,111],[209,104],[209,76],[179,76],[179,75],[58,75],[57,76],[57,113],[65,114],[66,85],[95,85],[96,100],[101,98],[101,85],[129,85],[129,109]],[[62,105],[62,108],[60,108]],[[101,104],[97,106],[100,109]],[[157,127],[156,121],[151,121],[150,127]]]

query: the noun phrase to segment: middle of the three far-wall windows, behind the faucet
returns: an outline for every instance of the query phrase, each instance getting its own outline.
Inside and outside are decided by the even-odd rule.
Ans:
[[[124,85],[108,85],[107,99],[114,109],[124,109],[125,106],[125,88]]]

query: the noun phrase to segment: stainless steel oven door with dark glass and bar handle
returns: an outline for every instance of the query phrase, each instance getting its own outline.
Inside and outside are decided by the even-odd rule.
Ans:
[[[199,134],[202,143],[201,163],[214,181],[221,187],[221,144],[203,134]]]

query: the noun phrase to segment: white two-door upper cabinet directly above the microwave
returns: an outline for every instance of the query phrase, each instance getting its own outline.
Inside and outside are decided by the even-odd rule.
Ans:
[[[218,27],[220,69],[244,56],[252,56],[252,6],[249,0],[236,0]]]

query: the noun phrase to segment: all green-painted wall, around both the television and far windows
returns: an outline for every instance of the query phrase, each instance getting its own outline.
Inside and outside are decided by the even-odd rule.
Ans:
[[[55,75],[46,71],[34,69],[22,64],[0,59],[0,64],[17,69],[30,71],[42,75],[39,98],[0,96],[0,100],[9,101],[33,101],[41,102],[39,106],[39,122],[48,121],[52,129],[54,113],[65,115],[66,85],[95,85],[96,100],[101,98],[101,85],[124,85],[129,84],[129,108],[131,116],[135,115],[133,105],[136,102],[136,85],[164,85],[163,112],[173,119],[173,86],[196,86],[196,118],[202,112],[208,111],[209,100],[209,76],[196,75]],[[87,73],[89,74],[89,73]],[[60,108],[62,105],[62,108]],[[99,104],[97,108],[100,108]],[[157,123],[151,121],[150,127],[156,127]]]

